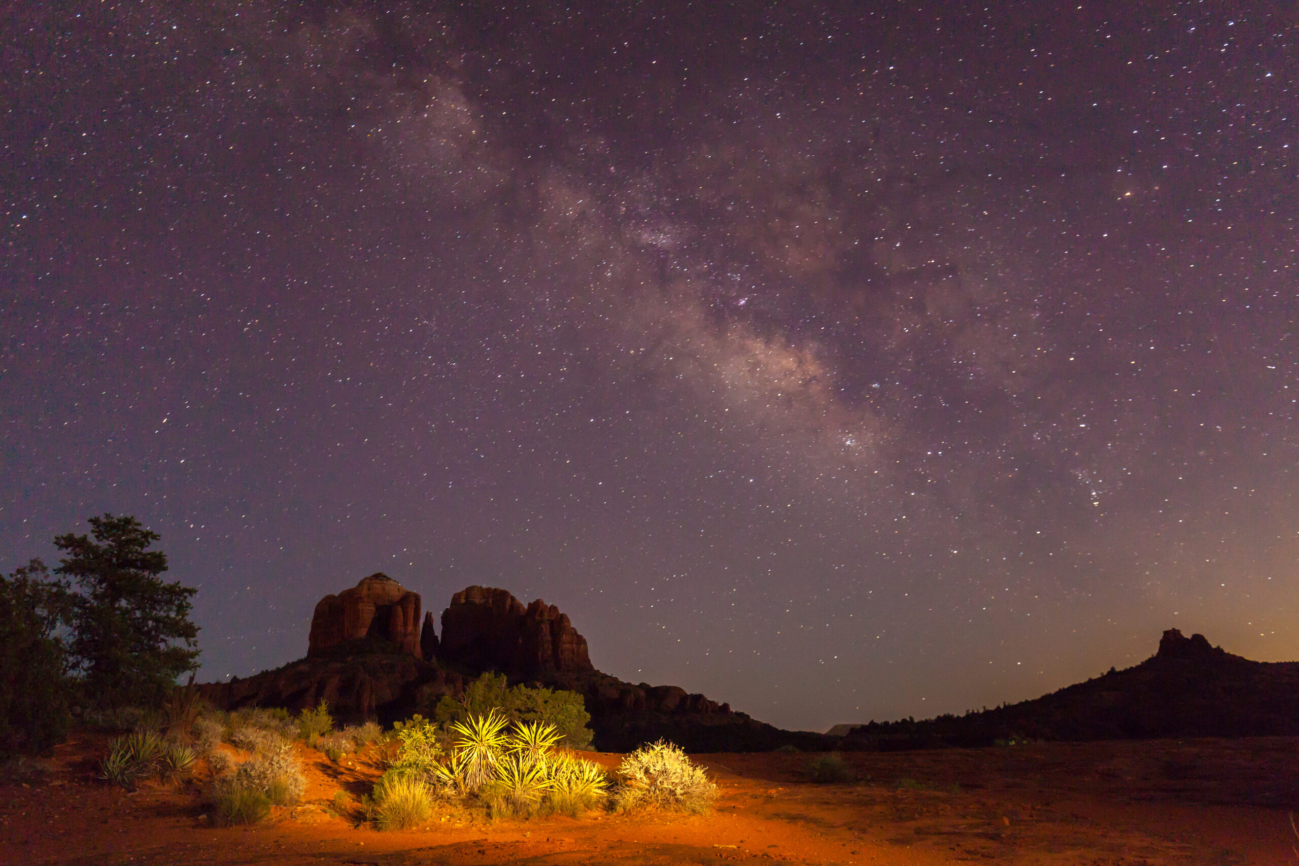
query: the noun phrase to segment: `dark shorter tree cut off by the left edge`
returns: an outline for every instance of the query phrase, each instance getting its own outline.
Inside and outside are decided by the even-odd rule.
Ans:
[[[68,735],[68,584],[40,560],[0,575],[0,753],[36,753]]]

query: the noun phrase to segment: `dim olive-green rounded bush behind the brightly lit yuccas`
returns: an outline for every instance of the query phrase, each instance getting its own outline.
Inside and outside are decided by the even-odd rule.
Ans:
[[[483,674],[469,686],[460,700],[444,695],[434,709],[434,718],[443,724],[464,722],[472,715],[496,710],[507,721],[546,722],[560,734],[559,745],[581,749],[591,744],[594,734],[587,724],[591,714],[577,692],[509,686],[504,674]]]

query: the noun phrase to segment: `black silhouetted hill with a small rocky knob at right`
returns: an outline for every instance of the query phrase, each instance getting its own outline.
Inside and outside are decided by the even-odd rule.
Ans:
[[[1170,628],[1134,667],[991,710],[857,726],[842,748],[1273,735],[1299,735],[1299,662],[1250,661]]]

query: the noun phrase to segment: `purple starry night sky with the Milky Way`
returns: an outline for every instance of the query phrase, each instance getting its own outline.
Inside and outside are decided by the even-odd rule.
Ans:
[[[0,570],[385,571],[782,727],[1299,658],[1283,3],[13,4]]]

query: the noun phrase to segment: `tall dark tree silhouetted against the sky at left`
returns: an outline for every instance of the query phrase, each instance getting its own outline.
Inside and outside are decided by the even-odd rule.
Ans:
[[[55,569],[77,583],[69,656],[87,696],[107,706],[156,705],[177,676],[197,666],[190,622],[196,589],[158,578],[166,554],[158,535],[134,517],[90,518],[91,536],[60,535],[68,556]]]

